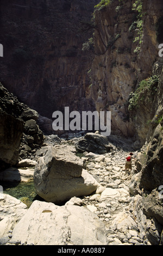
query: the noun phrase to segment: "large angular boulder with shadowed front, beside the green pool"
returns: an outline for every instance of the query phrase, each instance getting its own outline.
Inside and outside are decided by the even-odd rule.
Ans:
[[[35,166],[34,184],[46,202],[60,203],[96,191],[98,182],[85,169],[72,147],[49,146]]]

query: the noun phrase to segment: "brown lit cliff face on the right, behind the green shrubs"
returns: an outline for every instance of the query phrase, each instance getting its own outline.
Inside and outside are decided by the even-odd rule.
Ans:
[[[143,108],[129,112],[128,100],[139,82],[153,75],[153,65],[159,61],[155,26],[161,17],[162,2],[143,1],[139,51],[136,51],[134,42],[138,13],[133,10],[133,3],[135,1],[112,1],[108,7],[95,13],[91,95],[98,111],[111,111],[113,133],[135,136],[143,144],[147,137],[148,120],[154,117],[158,103],[152,107],[145,101]]]

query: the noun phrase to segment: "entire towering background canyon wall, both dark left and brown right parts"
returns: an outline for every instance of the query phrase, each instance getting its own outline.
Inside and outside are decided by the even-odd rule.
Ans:
[[[1,0],[0,81],[50,119],[65,106],[111,111],[111,132],[143,145],[161,116],[161,89],[139,108],[129,109],[129,99],[142,80],[160,76],[162,2],[143,1],[140,28],[135,1],[111,1],[96,8],[92,21],[98,2]]]

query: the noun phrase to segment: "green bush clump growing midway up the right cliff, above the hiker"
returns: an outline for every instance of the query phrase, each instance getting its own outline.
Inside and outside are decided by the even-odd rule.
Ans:
[[[154,95],[158,89],[159,77],[154,75],[139,83],[139,87],[135,92],[131,92],[129,96],[129,110],[139,108],[140,102],[147,99],[150,95]]]

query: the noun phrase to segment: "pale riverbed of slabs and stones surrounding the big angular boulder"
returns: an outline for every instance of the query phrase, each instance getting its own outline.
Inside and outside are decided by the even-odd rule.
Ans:
[[[80,134],[69,135],[68,139],[59,138],[55,135],[46,136],[43,148],[49,147],[49,145],[62,145],[64,147],[71,145],[74,149],[79,149],[79,141],[83,138]],[[148,218],[143,213],[139,206],[143,202],[143,196],[140,194],[133,196],[132,194],[132,179],[133,177],[135,180],[137,179],[134,161],[131,172],[124,168],[128,153],[132,151],[134,157],[137,157],[140,150],[137,150],[136,143],[117,136],[110,136],[109,143],[111,143],[112,149],[104,154],[76,151],[76,155],[83,160],[87,173],[93,176],[98,183],[97,189],[93,193],[80,197],[74,196],[62,205],[35,200],[29,209],[20,200],[12,200],[10,196],[2,198],[0,225],[2,225],[3,229],[1,230],[3,231],[1,231],[1,245],[39,245],[41,242],[46,245],[162,244],[161,225],[155,221],[155,218]],[[37,150],[35,161],[39,161],[42,154],[41,149]],[[13,208],[11,208],[11,202]],[[46,212],[46,218],[40,217],[42,215],[38,209],[41,209],[41,212]],[[16,212],[14,217],[13,211]],[[40,214],[39,217],[38,214]],[[43,223],[39,221],[41,218]],[[18,224],[16,224],[17,221],[19,221]],[[58,221],[61,224],[57,224]],[[54,224],[54,222],[56,223]],[[85,227],[88,225],[87,229],[83,226],[79,227],[82,237],[84,237],[82,239],[81,234],[76,234],[76,227],[74,227],[80,222]],[[43,225],[44,231],[41,229],[41,225]],[[51,230],[50,227],[53,225],[54,229]],[[48,237],[46,233],[48,229],[49,233],[52,232],[51,236],[54,235],[55,230],[55,239]],[[62,236],[59,230],[64,230]],[[86,235],[87,232],[90,233],[89,237]],[[20,238],[18,234],[24,238]],[[57,237],[56,234],[58,234]],[[93,240],[94,236],[99,238]],[[39,237],[41,238],[39,239]]]

